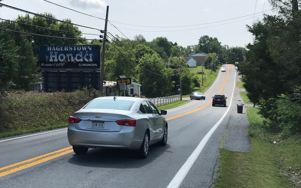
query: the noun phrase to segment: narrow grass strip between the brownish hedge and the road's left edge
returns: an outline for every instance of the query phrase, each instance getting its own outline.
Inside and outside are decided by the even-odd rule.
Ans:
[[[24,134],[34,133],[34,132],[48,131],[48,130],[52,130],[52,129],[64,128],[67,126],[68,126],[68,123],[60,123],[60,124],[52,125],[52,126],[38,127],[35,129],[2,132],[2,133],[0,133],[0,138],[24,135]]]

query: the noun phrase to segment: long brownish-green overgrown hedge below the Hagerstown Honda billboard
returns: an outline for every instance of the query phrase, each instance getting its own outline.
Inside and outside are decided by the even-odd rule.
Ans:
[[[101,96],[95,89],[75,92],[15,92],[0,105],[0,132],[35,129],[67,122],[87,102]]]

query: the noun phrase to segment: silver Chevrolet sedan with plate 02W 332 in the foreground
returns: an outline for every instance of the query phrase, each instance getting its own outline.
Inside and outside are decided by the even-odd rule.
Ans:
[[[68,119],[68,141],[77,154],[89,148],[138,150],[146,158],[148,148],[167,143],[167,121],[148,99],[99,97],[88,102]]]

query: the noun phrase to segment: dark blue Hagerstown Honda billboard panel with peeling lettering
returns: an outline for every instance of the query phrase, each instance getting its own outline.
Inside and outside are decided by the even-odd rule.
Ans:
[[[100,68],[100,45],[40,46],[41,68]]]

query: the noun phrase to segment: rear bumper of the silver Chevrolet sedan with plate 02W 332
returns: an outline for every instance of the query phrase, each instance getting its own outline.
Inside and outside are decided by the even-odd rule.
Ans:
[[[135,137],[135,127],[130,126],[123,126],[119,132],[96,132],[76,129],[74,123],[70,123],[67,135],[72,146],[138,150],[142,144],[142,140]]]

